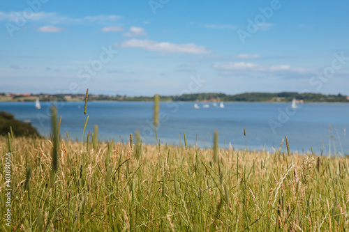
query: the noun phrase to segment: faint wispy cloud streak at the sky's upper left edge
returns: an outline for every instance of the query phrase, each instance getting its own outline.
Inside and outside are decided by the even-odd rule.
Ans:
[[[16,22],[20,18],[27,21],[45,22],[50,24],[82,24],[82,23],[107,23],[116,22],[121,19],[119,15],[92,15],[80,18],[73,18],[59,13],[47,13],[40,11],[38,13],[27,14],[27,12],[16,11],[5,13],[0,11],[0,21]]]

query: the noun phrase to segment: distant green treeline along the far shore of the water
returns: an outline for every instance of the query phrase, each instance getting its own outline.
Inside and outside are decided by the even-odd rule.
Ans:
[[[4,93],[0,93],[4,96]],[[67,96],[70,96],[67,98]],[[84,100],[84,95],[31,95],[24,97],[15,96],[13,101],[33,101],[39,98],[40,101],[79,101]],[[161,101],[223,101],[223,102],[290,102],[293,98],[303,100],[304,102],[349,102],[346,95],[324,95],[321,93],[297,93],[297,92],[281,92],[281,93],[241,93],[237,95],[227,95],[225,93],[193,93],[175,96],[160,96]],[[128,97],[126,95],[89,95],[91,101],[152,101],[154,97],[139,96]],[[0,99],[1,100],[1,99]]]

